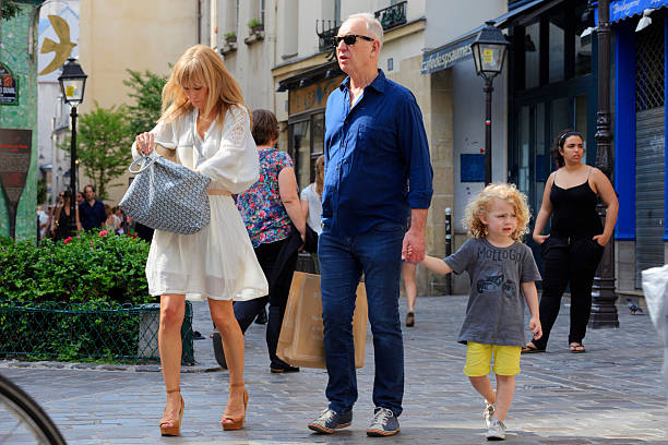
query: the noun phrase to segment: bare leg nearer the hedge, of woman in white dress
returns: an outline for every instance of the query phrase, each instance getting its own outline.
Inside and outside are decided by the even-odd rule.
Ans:
[[[181,374],[181,324],[186,312],[186,296],[165,294],[160,297],[160,323],[158,348],[163,378],[167,390],[180,387]],[[178,392],[167,394],[167,406],[163,419],[178,420],[181,399]]]

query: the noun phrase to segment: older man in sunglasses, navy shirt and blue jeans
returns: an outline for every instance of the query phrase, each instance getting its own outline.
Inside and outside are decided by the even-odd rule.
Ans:
[[[401,261],[402,254],[411,263],[425,256],[432,170],[415,97],[378,69],[382,35],[373,15],[355,14],[335,38],[338,65],[348,77],[332,92],[325,111],[323,231],[318,254],[330,405],[309,423],[320,433],[333,433],[353,421],[357,380],[351,320],[362,273],[375,360],[375,410],[367,434],[399,432],[404,394]]]

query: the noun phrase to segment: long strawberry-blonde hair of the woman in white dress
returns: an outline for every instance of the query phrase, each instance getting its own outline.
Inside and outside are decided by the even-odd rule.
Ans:
[[[208,88],[208,97],[204,117],[215,116],[223,123],[225,113],[231,106],[246,108],[241,88],[225,68],[218,55],[205,45],[195,45],[186,50],[177,60],[171,75],[163,88],[163,115],[159,121],[172,121],[192,109],[192,104],[186,96],[184,87],[204,86]]]

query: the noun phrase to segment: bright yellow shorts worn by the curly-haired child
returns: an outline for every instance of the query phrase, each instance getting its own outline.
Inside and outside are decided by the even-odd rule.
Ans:
[[[494,354],[492,371],[499,375],[520,374],[520,346],[480,345],[468,341],[464,374],[469,377],[481,377],[489,374],[489,365]]]

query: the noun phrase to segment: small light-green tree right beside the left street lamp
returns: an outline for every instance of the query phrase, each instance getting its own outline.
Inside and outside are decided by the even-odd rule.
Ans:
[[[123,175],[132,161],[132,133],[127,112],[126,106],[100,108],[95,103],[93,111],[79,118],[76,157],[85,176],[93,181],[98,200],[108,197],[109,182]],[[69,140],[60,146],[64,151],[69,147]]]

